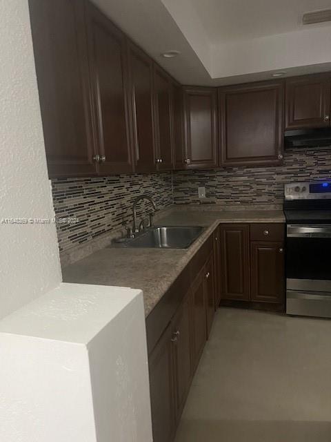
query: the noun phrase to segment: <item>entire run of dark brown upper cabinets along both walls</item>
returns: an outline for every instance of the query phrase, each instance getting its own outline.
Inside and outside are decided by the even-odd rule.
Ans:
[[[278,165],[284,120],[330,126],[330,73],[181,86],[90,1],[29,5],[50,177]]]

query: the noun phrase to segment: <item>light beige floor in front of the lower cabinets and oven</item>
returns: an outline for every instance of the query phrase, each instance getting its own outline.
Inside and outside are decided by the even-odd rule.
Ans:
[[[219,309],[175,442],[331,442],[331,320]]]

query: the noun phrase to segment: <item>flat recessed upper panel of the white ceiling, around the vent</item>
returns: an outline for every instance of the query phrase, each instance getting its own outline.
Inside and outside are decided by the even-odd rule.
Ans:
[[[180,0],[179,0],[180,1]],[[331,8],[330,0],[190,0],[214,44],[303,29],[304,12]],[[330,23],[314,26],[330,26]]]

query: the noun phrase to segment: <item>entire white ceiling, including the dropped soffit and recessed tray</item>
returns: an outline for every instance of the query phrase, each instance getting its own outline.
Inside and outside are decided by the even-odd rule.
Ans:
[[[330,0],[92,0],[181,84],[217,86],[331,70]],[[161,57],[179,50],[174,59]]]

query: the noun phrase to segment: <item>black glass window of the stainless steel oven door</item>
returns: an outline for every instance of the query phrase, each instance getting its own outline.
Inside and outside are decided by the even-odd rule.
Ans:
[[[286,277],[331,280],[331,238],[287,238]]]

